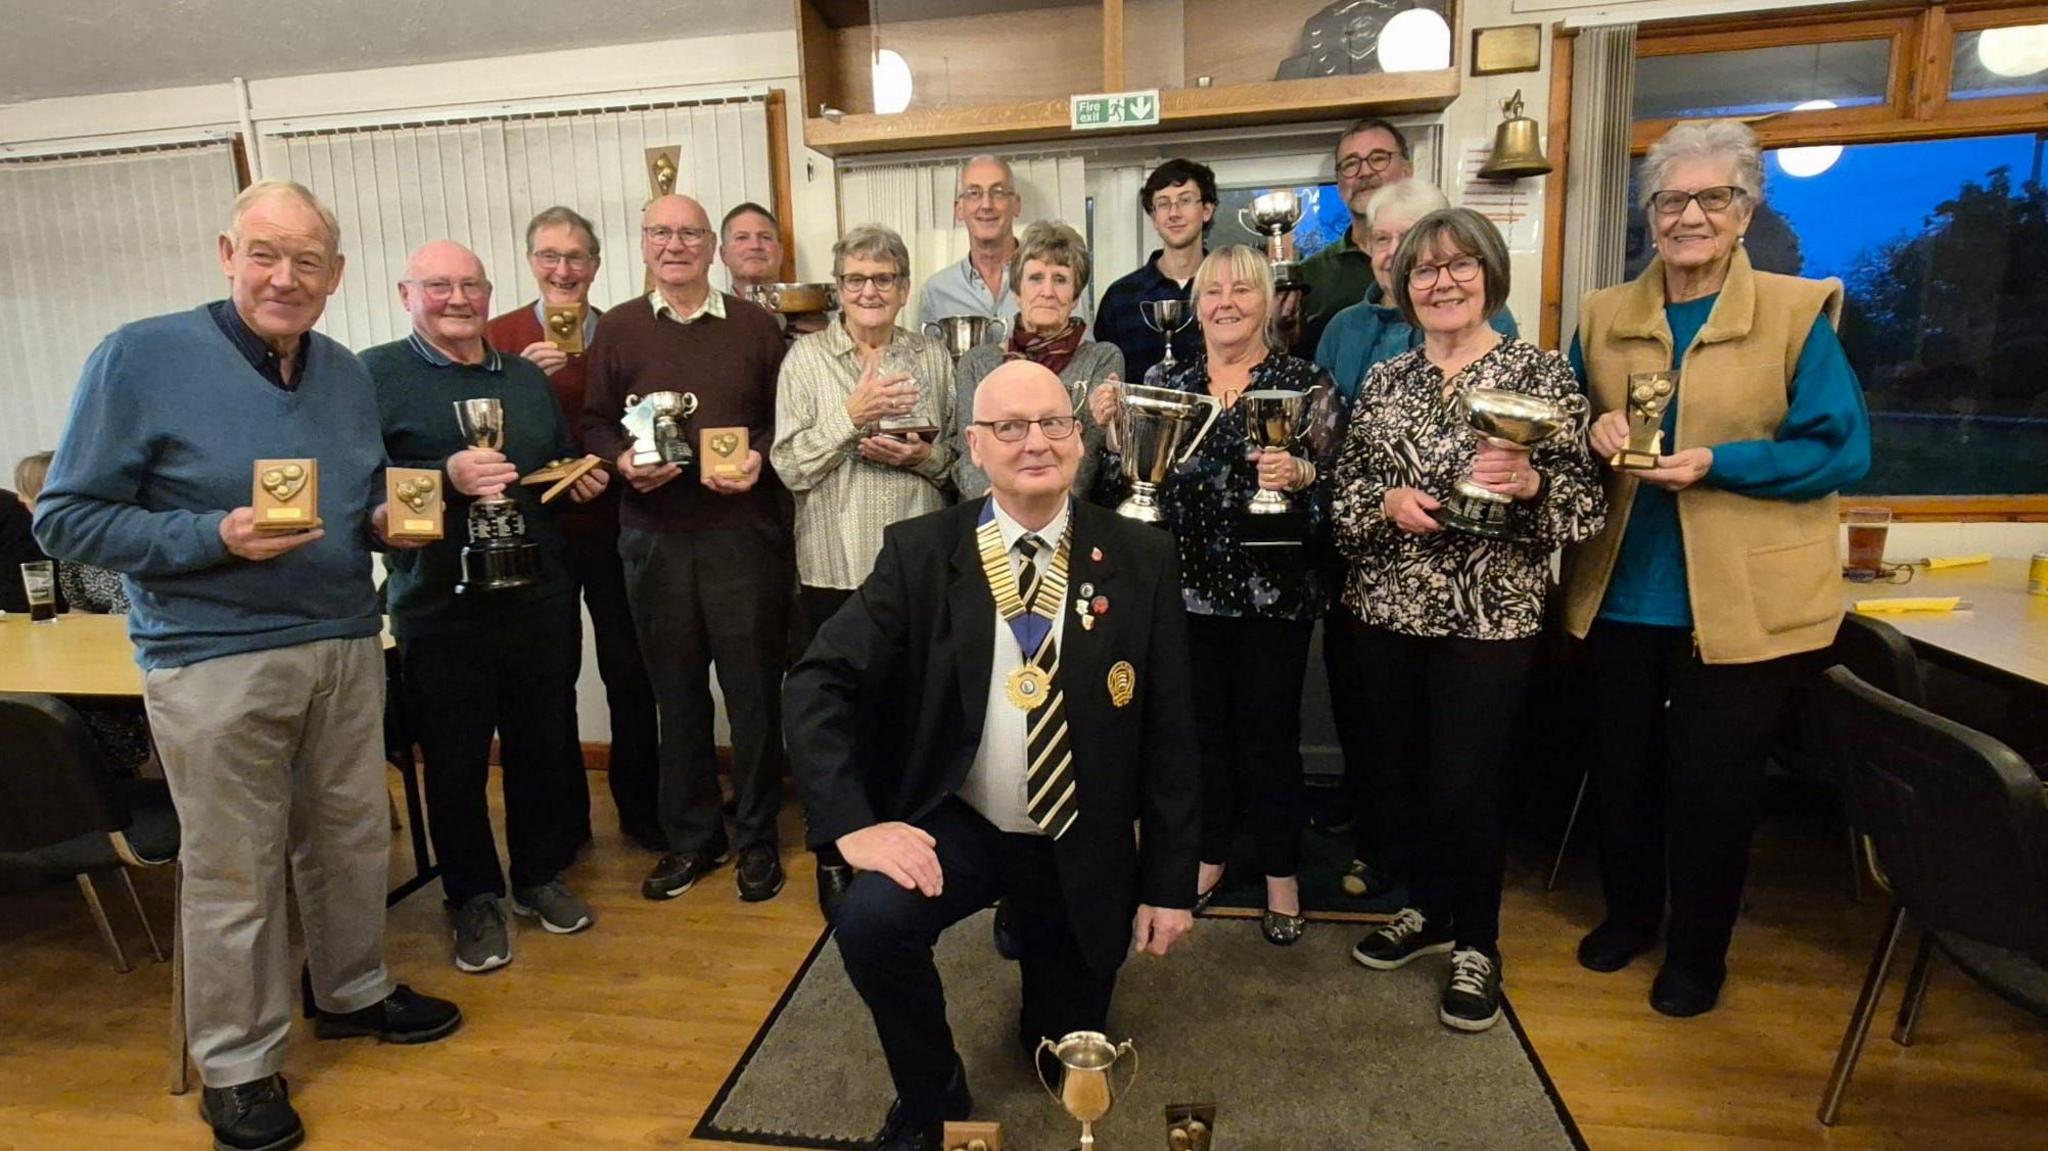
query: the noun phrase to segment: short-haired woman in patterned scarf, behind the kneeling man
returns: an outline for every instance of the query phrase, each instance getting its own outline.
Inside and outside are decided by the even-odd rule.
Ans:
[[[1001,344],[981,344],[961,356],[952,371],[952,426],[946,444],[952,446],[952,481],[963,500],[989,492],[989,477],[965,451],[961,428],[975,414],[975,389],[1004,365],[1030,360],[1059,375],[1067,395],[1081,399],[1104,381],[1124,371],[1124,352],[1116,344],[1087,338],[1087,322],[1073,313],[1075,301],[1087,289],[1087,242],[1059,221],[1040,219],[1024,229],[1018,254],[1010,260],[1010,291],[1018,299],[1016,332]],[[1081,434],[1081,471],[1073,489],[1087,496],[1096,485],[1096,465],[1102,451],[1102,426],[1085,422]]]

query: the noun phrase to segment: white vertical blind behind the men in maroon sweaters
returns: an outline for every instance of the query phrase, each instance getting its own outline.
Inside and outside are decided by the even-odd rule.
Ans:
[[[319,328],[362,350],[410,328],[397,303],[406,256],[455,240],[483,260],[492,311],[535,297],[526,221],[567,205],[598,227],[604,264],[590,299],[641,295],[639,219],[647,147],[678,145],[676,190],[725,209],[774,205],[768,113],[760,98],[717,104],[399,125],[262,137],[262,170],[299,180],[334,207],[348,270]],[[723,268],[715,281],[723,285]]]

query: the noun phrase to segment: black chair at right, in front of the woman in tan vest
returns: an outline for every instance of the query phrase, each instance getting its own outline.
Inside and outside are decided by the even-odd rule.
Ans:
[[[2048,1018],[2048,793],[2011,748],[1829,668],[1829,733],[1847,780],[1849,817],[1892,911],[1821,1096],[1841,1112],[1892,954],[1921,928],[1892,1038],[1913,1040],[1933,952],[2001,999]]]

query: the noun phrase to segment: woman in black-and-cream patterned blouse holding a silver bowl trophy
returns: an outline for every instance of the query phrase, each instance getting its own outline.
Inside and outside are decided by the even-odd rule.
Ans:
[[[1473,389],[1550,401],[1579,393],[1563,358],[1487,324],[1507,301],[1507,248],[1493,223],[1470,209],[1421,217],[1389,279],[1423,346],[1366,377],[1337,461],[1335,537],[1352,561],[1346,606],[1366,623],[1364,653],[1384,672],[1366,702],[1421,817],[1407,827],[1411,905],[1352,958],[1393,971],[1452,952],[1438,1018],[1487,1030],[1501,1016],[1501,768],[1550,553],[1597,532],[1606,500],[1583,416],[1534,451],[1483,440],[1466,424],[1460,397]],[[1438,522],[1464,475],[1513,500],[1513,539]]]

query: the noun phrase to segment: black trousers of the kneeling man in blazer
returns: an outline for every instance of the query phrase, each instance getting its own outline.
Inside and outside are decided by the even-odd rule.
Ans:
[[[940,803],[918,821],[938,840],[946,877],[938,897],[897,887],[877,870],[854,877],[834,930],[840,956],[860,999],[874,1014],[874,1032],[889,1059],[889,1077],[911,1114],[934,1118],[958,1055],[946,1024],[946,989],[932,946],[940,932],[1008,899],[1024,977],[1018,1047],[1071,1030],[1108,1030],[1114,971],[1096,971],[1081,954],[1059,887],[1053,840],[997,832],[958,799]],[[1133,907],[1133,913],[1137,907]],[[989,963],[997,963],[989,954]]]

